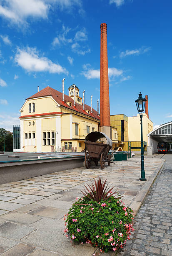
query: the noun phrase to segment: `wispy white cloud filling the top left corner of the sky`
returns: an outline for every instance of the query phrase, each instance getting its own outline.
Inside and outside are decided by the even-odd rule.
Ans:
[[[4,0],[1,1],[0,15],[11,23],[21,26],[27,18],[47,18],[49,5],[44,0]]]

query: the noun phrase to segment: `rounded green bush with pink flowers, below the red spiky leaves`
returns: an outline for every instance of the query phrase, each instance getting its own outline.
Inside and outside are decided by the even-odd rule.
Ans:
[[[85,196],[75,202],[67,213],[66,236],[74,242],[91,243],[102,252],[116,251],[123,248],[130,239],[131,231],[134,231],[132,212],[122,205],[122,200],[112,195],[100,202]]]

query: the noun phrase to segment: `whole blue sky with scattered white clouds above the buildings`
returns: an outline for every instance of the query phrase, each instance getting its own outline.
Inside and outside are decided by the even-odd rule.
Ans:
[[[12,131],[25,99],[76,84],[96,109],[100,24],[107,23],[110,113],[136,115],[148,95],[154,125],[172,120],[171,0],[0,0],[0,127]]]

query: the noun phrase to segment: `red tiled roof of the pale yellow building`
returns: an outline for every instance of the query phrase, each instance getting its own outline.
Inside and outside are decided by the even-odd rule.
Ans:
[[[85,110],[83,110],[83,105],[80,105],[76,102],[75,103],[76,106],[74,107],[74,100],[71,97],[67,96],[67,95],[65,95],[65,102],[63,102],[62,101],[62,92],[59,92],[59,91],[57,91],[57,90],[55,90],[55,89],[53,89],[49,86],[45,87],[40,92],[35,93],[34,95],[27,98],[26,100],[34,99],[34,98],[38,98],[38,97],[43,97],[43,96],[52,96],[52,98],[59,105],[100,120],[100,117],[97,116],[97,111],[94,108],[92,108],[92,113],[91,113],[91,107],[85,104],[85,110],[90,110],[90,114],[88,114]],[[71,102],[72,106],[70,107],[66,102]]]

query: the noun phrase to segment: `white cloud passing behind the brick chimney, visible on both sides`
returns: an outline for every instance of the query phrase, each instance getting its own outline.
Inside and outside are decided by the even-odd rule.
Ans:
[[[88,64],[87,64],[88,65]],[[82,71],[83,74],[87,79],[100,79],[100,69],[90,69],[87,66],[84,66],[85,71]],[[108,69],[109,78],[113,79],[115,77],[119,77],[123,74],[123,70],[116,69],[116,68],[109,68]]]

